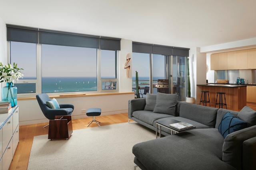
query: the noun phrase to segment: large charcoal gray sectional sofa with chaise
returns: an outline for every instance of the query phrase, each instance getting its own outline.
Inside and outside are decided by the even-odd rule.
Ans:
[[[189,104],[178,102],[174,94],[168,95],[147,94],[146,98],[129,100],[129,119],[154,131],[156,121],[161,119],[184,121],[196,129],[170,135],[170,131],[162,127],[165,137],[134,145],[136,165],[142,170],[256,169],[256,111],[248,106],[238,112]],[[227,112],[231,113],[232,120],[242,121],[246,127],[233,129],[234,132],[231,129],[225,136],[222,127],[227,122],[222,118]]]

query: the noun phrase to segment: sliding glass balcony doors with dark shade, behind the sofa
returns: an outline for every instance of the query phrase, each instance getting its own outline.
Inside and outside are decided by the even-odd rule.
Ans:
[[[184,97],[186,97],[185,61],[188,56],[188,50],[180,47],[133,42],[132,69],[134,71],[132,73],[132,89],[136,89],[135,71],[140,70],[138,71],[139,86],[142,86],[140,90],[143,89],[143,86],[150,86],[151,93],[179,93],[178,100],[184,100]],[[142,75],[147,72],[146,80],[140,78],[142,76],[140,72]],[[158,80],[161,82],[158,82]],[[165,85],[166,82],[168,86]],[[159,83],[162,86],[159,86]]]

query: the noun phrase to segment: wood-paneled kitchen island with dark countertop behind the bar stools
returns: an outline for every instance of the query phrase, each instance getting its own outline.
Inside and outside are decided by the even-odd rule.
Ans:
[[[246,106],[246,85],[211,84],[210,83],[210,84],[198,84],[197,86],[199,87],[200,90],[209,91],[211,107],[215,106],[217,92],[226,93],[225,96],[226,96],[227,109],[240,111],[244,106]],[[201,93],[200,93],[200,97],[201,97]],[[226,109],[225,106],[224,108]]]

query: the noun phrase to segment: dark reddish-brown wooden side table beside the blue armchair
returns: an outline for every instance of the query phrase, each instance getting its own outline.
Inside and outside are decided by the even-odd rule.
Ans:
[[[68,139],[73,133],[71,115],[55,116],[49,121],[48,139]]]

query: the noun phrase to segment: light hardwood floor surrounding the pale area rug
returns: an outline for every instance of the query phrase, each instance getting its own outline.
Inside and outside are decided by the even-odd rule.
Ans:
[[[116,114],[116,115],[104,115],[95,117],[97,121],[100,121],[100,125],[112,125],[116,123],[128,122],[128,113]],[[96,123],[92,123],[87,127],[88,122],[92,120],[92,117],[83,119],[73,119],[72,127],[73,130],[97,127]],[[132,120],[130,120],[132,121]],[[26,170],[28,167],[28,159],[30,155],[30,150],[33,143],[34,136],[46,135],[48,134],[48,127],[43,128],[48,123],[40,123],[33,125],[20,126],[20,142],[15,151],[12,163],[9,170]]]

